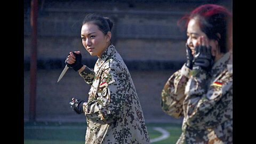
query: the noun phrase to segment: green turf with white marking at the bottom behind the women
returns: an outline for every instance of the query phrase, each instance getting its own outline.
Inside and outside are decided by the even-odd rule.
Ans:
[[[161,127],[170,136],[151,143],[175,143],[181,134],[181,124],[147,123],[150,140],[161,137],[162,133],[154,127]],[[24,122],[25,144],[83,144],[86,123],[78,122]]]

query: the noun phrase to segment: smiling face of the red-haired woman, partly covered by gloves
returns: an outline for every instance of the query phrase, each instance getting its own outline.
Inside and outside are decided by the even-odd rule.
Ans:
[[[205,43],[206,46],[211,46],[212,47],[212,55],[216,56],[217,53],[217,48],[218,48],[218,41],[215,41],[213,39],[208,39],[206,34],[200,29],[199,23],[195,19],[190,19],[188,23],[188,28],[187,28],[187,44],[190,47],[192,54],[195,54],[195,47],[197,45],[202,45],[202,43],[199,42],[200,37],[204,37],[207,41]]]

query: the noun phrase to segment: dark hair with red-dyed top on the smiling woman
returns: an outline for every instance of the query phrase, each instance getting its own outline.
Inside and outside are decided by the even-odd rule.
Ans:
[[[232,23],[232,14],[220,5],[205,4],[197,7],[189,15],[185,15],[178,22],[178,26],[185,29],[188,27],[190,19],[196,19],[199,22],[199,27],[207,35],[209,39],[215,39],[219,42],[220,51],[227,51],[227,36],[228,27]],[[185,23],[184,23],[185,21]],[[217,34],[220,34],[218,37]]]

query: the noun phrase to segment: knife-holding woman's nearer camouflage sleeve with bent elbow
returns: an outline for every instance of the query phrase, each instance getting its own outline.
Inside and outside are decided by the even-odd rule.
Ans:
[[[118,77],[117,70],[103,70],[98,97],[84,107],[86,117],[105,123],[114,122],[121,115],[125,103],[126,86]]]

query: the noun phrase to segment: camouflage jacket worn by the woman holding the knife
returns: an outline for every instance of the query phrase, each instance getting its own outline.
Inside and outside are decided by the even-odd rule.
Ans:
[[[83,106],[87,121],[85,143],[149,143],[142,109],[132,78],[113,45],[80,73],[91,85]]]

